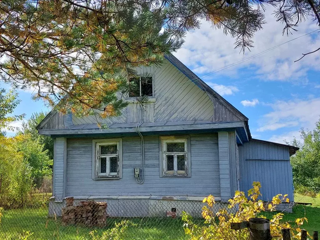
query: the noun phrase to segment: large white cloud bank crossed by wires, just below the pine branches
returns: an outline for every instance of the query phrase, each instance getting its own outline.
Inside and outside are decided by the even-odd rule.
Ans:
[[[263,30],[255,34],[253,38],[255,47],[251,49],[251,52],[246,51],[244,55],[239,54],[239,49],[234,49],[235,39],[229,35],[225,36],[222,30],[213,29],[211,23],[203,22],[199,30],[187,33],[183,48],[174,55],[186,65],[192,66],[192,70],[201,76],[318,28],[314,22],[308,20],[300,24],[299,32],[289,36],[282,36],[284,25],[276,22],[272,14],[273,10],[273,7],[267,9],[265,14],[268,23],[263,26]],[[240,68],[250,67],[252,74],[263,80],[306,83],[308,81],[308,70],[320,70],[320,65],[318,64],[320,55],[310,54],[296,63],[294,60],[299,59],[301,53],[315,50],[319,45],[320,35],[315,32],[283,44],[276,49],[227,70],[216,72],[212,76],[236,76]]]

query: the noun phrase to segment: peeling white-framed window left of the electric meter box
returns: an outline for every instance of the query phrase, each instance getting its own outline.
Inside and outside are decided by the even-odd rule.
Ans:
[[[122,139],[92,140],[92,178],[122,177]]]

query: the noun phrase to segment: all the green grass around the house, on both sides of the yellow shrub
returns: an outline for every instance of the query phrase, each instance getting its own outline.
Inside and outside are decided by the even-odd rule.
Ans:
[[[285,213],[285,221],[294,221],[296,218],[307,217],[308,223],[303,224],[303,228],[312,231],[320,231],[320,199],[295,195],[295,201],[312,203],[312,205],[297,205],[293,208],[293,213]],[[274,213],[266,212],[270,218]],[[34,234],[28,240],[86,240],[91,239],[89,232],[95,228],[77,227],[73,225],[63,226],[59,220],[48,218],[48,209],[15,209],[4,211],[4,216],[0,224],[0,239],[17,239],[19,234],[25,230]],[[108,218],[108,228],[114,227],[114,223],[121,219]],[[143,239],[143,240],[185,240],[183,222],[181,219],[171,218],[128,218],[135,226],[130,226],[124,232],[123,239]],[[199,220],[202,221],[202,220]],[[108,228],[97,228],[98,233],[102,233]]]

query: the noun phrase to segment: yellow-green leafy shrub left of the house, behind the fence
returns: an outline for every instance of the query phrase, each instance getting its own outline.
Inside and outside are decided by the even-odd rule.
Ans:
[[[37,198],[30,193],[39,188],[44,174],[51,174],[47,151],[28,134],[15,137],[0,135],[0,207],[40,207],[47,198]],[[41,179],[39,182],[35,179]]]

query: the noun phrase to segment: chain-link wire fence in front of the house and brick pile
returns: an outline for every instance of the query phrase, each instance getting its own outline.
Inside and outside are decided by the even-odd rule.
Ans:
[[[32,233],[28,240],[190,239],[182,213],[188,212],[194,223],[203,226],[203,206],[201,201],[170,199],[51,199],[41,208],[4,210],[0,239],[24,239],[26,231]],[[221,208],[233,211],[218,202],[212,212]]]

